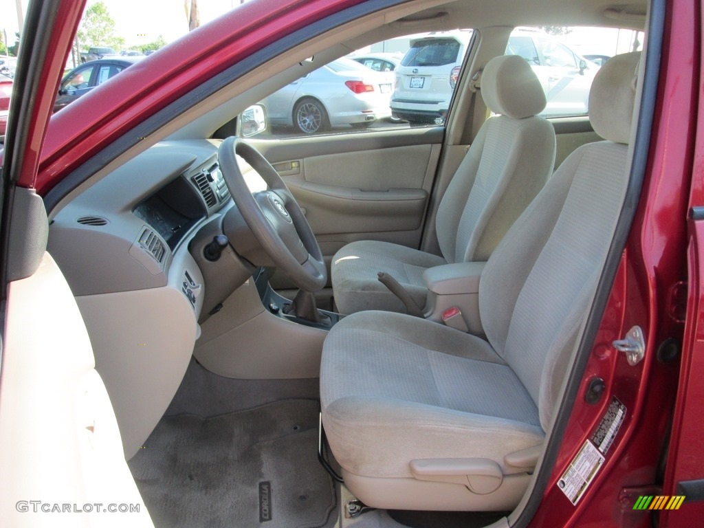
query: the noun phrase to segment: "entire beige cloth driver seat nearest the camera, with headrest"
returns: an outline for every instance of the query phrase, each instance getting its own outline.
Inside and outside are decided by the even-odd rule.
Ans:
[[[606,140],[574,151],[486,263],[488,341],[367,311],[325,339],[322,423],[348,489],[377,508],[510,510],[527,489],[626,193],[639,54],[589,98]]]

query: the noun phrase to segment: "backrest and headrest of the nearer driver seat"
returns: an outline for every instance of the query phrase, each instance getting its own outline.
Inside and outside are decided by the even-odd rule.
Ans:
[[[640,54],[596,75],[589,117],[606,141],[560,165],[484,268],[479,312],[489,342],[539,408],[545,429],[619,218]]]

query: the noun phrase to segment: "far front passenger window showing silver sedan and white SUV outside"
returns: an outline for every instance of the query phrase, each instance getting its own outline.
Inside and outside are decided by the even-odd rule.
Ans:
[[[261,99],[279,139],[444,124],[472,30],[412,34],[358,49]]]

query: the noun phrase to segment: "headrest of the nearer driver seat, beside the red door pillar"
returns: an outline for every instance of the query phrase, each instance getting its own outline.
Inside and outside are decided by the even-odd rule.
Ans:
[[[641,53],[617,55],[596,73],[589,92],[589,120],[594,132],[615,143],[628,144]]]

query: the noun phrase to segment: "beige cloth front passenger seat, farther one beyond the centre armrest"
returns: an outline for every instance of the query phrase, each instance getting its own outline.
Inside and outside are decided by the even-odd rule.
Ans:
[[[382,241],[356,241],[332,258],[337,310],[405,312],[378,280],[392,275],[420,308],[423,271],[447,263],[486,260],[548,180],[555,163],[555,131],[536,116],[546,105],[540,81],[521,57],[491,59],[482,97],[499,114],[484,122],[440,203],[436,232],[443,256]]]

